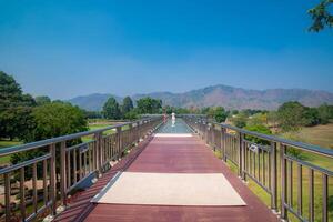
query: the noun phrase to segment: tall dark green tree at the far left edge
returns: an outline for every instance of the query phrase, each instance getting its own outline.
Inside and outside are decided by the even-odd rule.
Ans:
[[[20,84],[0,71],[0,138],[21,138],[30,131],[34,105],[33,98],[23,94]]]

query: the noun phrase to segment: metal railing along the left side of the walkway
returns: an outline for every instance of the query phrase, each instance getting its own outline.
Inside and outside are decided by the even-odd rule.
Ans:
[[[152,117],[0,149],[0,157],[36,151],[27,154],[30,158],[26,161],[0,169],[0,185],[4,188],[1,220],[31,221],[46,213],[56,215],[58,205],[65,206],[68,196],[80,189],[85,179],[100,176],[111,168],[110,161],[119,160],[125,149],[154,131],[161,122],[161,117]],[[31,189],[27,191],[28,183]],[[14,189],[19,190],[17,195],[12,193]]]

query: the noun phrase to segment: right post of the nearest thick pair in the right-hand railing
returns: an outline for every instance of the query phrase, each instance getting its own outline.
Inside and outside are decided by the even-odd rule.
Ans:
[[[287,209],[285,208],[286,203],[286,148],[284,144],[280,145],[280,161],[281,161],[281,219],[287,220]]]

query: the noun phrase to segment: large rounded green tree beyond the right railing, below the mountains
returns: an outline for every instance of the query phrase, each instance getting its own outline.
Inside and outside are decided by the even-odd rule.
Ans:
[[[296,101],[283,103],[279,110],[279,123],[283,131],[297,131],[304,125],[305,108]]]

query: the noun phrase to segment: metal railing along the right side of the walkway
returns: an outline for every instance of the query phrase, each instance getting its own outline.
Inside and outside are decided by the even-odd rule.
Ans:
[[[216,123],[204,115],[182,118],[236,167],[242,180],[252,180],[269,194],[271,209],[281,219],[332,221],[333,150]]]

